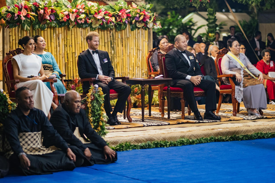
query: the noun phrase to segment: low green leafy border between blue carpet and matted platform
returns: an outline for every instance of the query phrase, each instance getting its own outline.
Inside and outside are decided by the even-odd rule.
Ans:
[[[118,144],[115,147],[111,147],[115,151],[127,151],[133,149],[150,149],[150,148],[166,148],[172,146],[186,146],[193,144],[202,144],[208,142],[228,142],[228,141],[236,141],[236,140],[255,140],[255,139],[263,139],[263,138],[274,138],[275,132],[272,133],[262,133],[256,132],[254,134],[247,135],[233,135],[233,136],[211,136],[209,138],[197,138],[197,139],[188,139],[188,138],[180,138],[176,141],[148,141],[141,144],[131,144],[129,142],[124,142]]]

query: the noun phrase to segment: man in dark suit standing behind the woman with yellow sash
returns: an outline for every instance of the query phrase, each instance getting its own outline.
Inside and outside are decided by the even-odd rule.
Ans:
[[[262,33],[260,31],[256,31],[254,34],[254,37],[251,39],[251,41],[249,41],[249,43],[251,44],[258,58],[261,60],[262,59],[261,52],[263,49],[266,48],[265,43],[262,41]],[[251,49],[251,47],[247,47],[247,48],[249,48],[247,50],[247,56],[249,57],[250,62],[252,64],[256,64],[258,62],[258,59],[254,51]]]

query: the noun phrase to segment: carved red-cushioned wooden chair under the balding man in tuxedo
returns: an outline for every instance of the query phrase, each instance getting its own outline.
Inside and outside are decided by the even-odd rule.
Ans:
[[[166,52],[172,50],[174,48],[174,44],[169,45],[166,47]],[[161,52],[158,52],[158,63],[160,66],[160,74],[163,75],[164,78],[169,77],[168,71],[165,66],[165,54],[162,54]],[[181,118],[184,120],[185,114],[184,114],[184,108],[185,108],[185,98],[184,98],[184,91],[182,88],[177,87],[170,87],[170,96],[171,97],[177,97],[181,98]],[[165,84],[162,84],[160,86],[160,96],[161,96],[161,116],[164,117],[164,102],[165,102],[165,96],[167,96],[167,86]],[[195,97],[204,97],[205,92],[203,89],[199,87],[194,87],[194,96]],[[191,114],[191,109],[188,106],[188,115]]]

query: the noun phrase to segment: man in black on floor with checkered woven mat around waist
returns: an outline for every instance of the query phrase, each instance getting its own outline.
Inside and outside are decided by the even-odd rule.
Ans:
[[[17,108],[4,123],[7,138],[5,157],[9,159],[11,169],[24,175],[73,170],[76,156],[54,130],[44,112],[34,108],[32,92],[27,87],[19,87],[15,98]],[[61,150],[45,148],[42,139]]]

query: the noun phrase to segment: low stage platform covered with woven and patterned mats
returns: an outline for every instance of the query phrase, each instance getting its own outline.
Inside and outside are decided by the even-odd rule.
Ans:
[[[205,112],[205,106],[198,106],[201,115]],[[158,108],[152,108],[152,116],[148,116],[145,109],[145,121],[141,120],[141,109],[132,108],[132,123],[123,121],[121,125],[107,126],[108,134],[105,140],[110,146],[116,146],[123,142],[140,144],[148,141],[176,141],[180,138],[196,139],[210,136],[232,136],[254,134],[256,132],[275,132],[275,106],[268,104],[264,116],[248,116],[243,104],[236,117],[232,115],[232,104],[222,104],[219,116],[221,121],[204,120],[203,122],[193,120],[193,114],[188,116],[185,110],[185,120],[181,119],[181,112],[171,112],[171,119],[160,117]],[[166,112],[167,114],[167,112]]]

